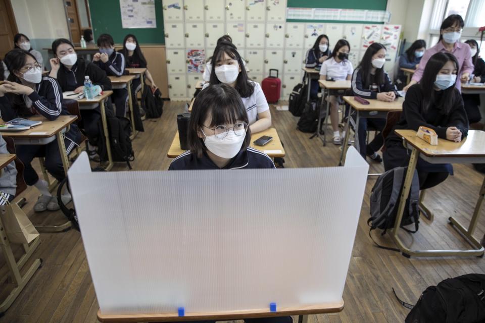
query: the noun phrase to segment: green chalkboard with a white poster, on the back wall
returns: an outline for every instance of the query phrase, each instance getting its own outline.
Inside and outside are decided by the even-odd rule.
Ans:
[[[113,36],[115,43],[122,43],[126,34],[134,34],[140,44],[165,44],[162,0],[155,0],[157,28],[124,29],[120,0],[89,0],[89,12],[94,41],[99,35],[107,33]]]

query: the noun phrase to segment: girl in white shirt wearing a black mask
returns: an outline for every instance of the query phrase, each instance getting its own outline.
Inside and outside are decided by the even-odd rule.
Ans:
[[[328,60],[323,62],[320,69],[320,80],[350,80],[354,68],[349,61],[350,44],[345,39],[340,39],[335,44],[332,53]],[[330,95],[330,121],[333,128],[333,143],[335,145],[342,144],[340,131],[338,131],[338,104],[337,97]]]

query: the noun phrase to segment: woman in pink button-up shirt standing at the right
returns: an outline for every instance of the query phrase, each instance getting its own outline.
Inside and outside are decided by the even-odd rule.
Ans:
[[[408,88],[421,80],[426,63],[431,56],[437,52],[447,51],[452,53],[458,61],[458,75],[460,75],[460,77],[456,80],[455,86],[458,91],[461,92],[461,82],[467,82],[470,78],[470,74],[473,72],[470,46],[458,41],[461,37],[463,26],[465,26],[465,23],[460,15],[450,15],[443,20],[440,27],[440,41],[424,52],[423,58],[421,59],[411,82],[403,88],[404,91],[407,91]]]

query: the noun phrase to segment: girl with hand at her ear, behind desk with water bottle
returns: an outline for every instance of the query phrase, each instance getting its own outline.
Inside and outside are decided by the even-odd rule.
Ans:
[[[52,52],[54,58],[50,60],[51,72],[49,76],[57,79],[62,92],[82,93],[85,76],[89,76],[93,85],[99,85],[103,90],[111,90],[111,81],[106,72],[93,63],[78,58],[71,41],[65,38],[56,39],[52,43]],[[108,103],[111,104],[110,99],[108,99]],[[100,107],[92,110],[81,110],[81,117],[82,120],[78,124],[89,139],[87,153],[91,159],[96,159],[95,146],[98,145],[100,137]]]

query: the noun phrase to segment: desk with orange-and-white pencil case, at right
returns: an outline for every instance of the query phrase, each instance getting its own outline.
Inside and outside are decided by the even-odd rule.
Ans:
[[[391,230],[390,236],[401,250],[404,256],[410,257],[440,257],[440,256],[481,256],[484,248],[478,240],[473,237],[473,233],[478,222],[483,196],[485,195],[485,179],[481,185],[478,200],[475,204],[473,216],[471,217],[468,229],[465,229],[453,217],[448,218],[449,223],[463,235],[472,249],[458,250],[411,250],[407,248],[398,237],[400,223],[403,218],[404,207],[409,196],[409,191],[413,179],[414,170],[418,158],[422,158],[431,164],[472,164],[485,163],[485,132],[479,130],[468,131],[468,136],[461,142],[453,142],[446,139],[438,139],[438,145],[432,146],[424,140],[416,137],[414,130],[395,130],[398,136],[403,138],[403,144],[410,149],[411,156],[409,159],[408,169],[404,180],[404,186],[399,202],[396,223]],[[458,192],[459,194],[459,192]]]

